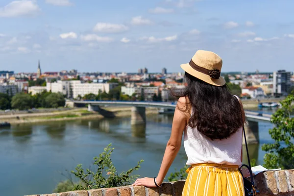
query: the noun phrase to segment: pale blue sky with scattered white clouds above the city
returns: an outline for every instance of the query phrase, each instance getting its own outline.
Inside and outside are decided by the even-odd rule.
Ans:
[[[0,0],[0,70],[182,72],[196,50],[222,72],[294,71],[294,0]]]

